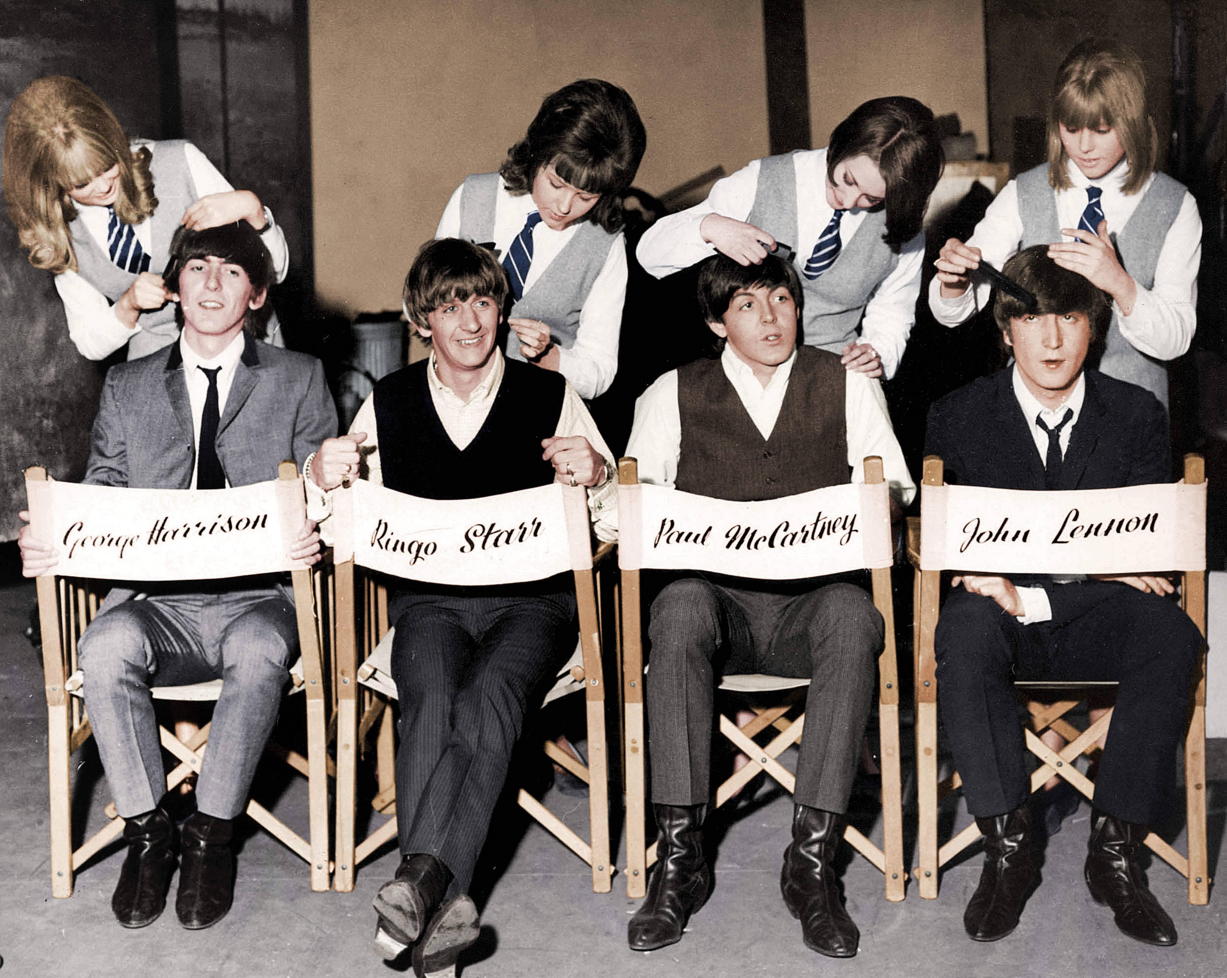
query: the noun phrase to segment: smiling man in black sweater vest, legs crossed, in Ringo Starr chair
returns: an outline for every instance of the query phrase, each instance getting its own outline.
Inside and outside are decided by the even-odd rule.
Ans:
[[[350,434],[312,459],[312,483],[328,492],[361,475],[412,496],[465,499],[557,479],[593,490],[596,535],[614,539],[610,450],[562,375],[503,358],[508,296],[487,249],[455,238],[426,244],[404,302],[431,357],[375,384]],[[374,898],[375,950],[394,957],[396,945],[416,942],[421,976],[450,967],[477,938],[474,866],[525,712],[574,649],[575,595],[571,574],[514,588],[404,582],[389,612],[401,863]]]

